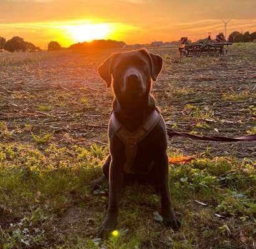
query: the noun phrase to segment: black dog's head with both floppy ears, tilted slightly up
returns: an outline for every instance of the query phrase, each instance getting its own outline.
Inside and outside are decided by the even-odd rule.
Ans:
[[[163,59],[146,49],[110,55],[98,68],[107,87],[113,84],[115,95],[136,98],[149,93],[151,79],[156,81]]]

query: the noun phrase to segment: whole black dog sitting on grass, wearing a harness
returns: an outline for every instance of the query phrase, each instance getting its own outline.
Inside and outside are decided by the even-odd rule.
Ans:
[[[115,229],[121,187],[131,179],[153,184],[161,194],[164,223],[175,230],[180,226],[169,191],[166,127],[150,94],[151,81],[162,67],[159,55],[140,49],[112,54],[98,68],[115,93],[108,126],[110,155],[102,167],[110,195],[100,235]]]

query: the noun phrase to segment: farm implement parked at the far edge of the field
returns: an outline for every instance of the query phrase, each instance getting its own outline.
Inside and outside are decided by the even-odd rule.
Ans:
[[[178,55],[183,55],[186,57],[201,55],[224,55],[227,54],[228,45],[232,45],[232,43],[227,42],[223,34],[216,35],[216,39],[212,40],[211,33],[209,33],[206,39],[198,40],[194,43],[189,43],[187,37],[181,37]],[[224,46],[226,46],[226,49],[224,49]]]

